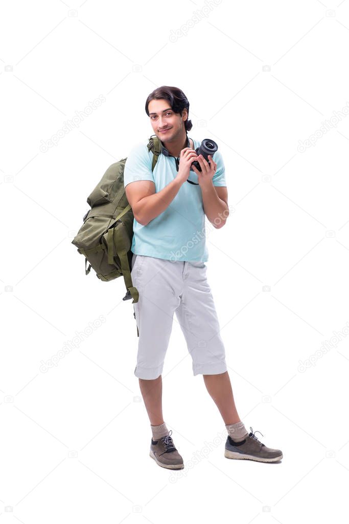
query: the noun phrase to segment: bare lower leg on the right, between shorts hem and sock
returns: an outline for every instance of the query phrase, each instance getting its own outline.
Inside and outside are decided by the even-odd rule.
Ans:
[[[203,378],[206,389],[219,409],[224,423],[235,424],[240,422],[228,372],[218,373],[217,375],[203,375]]]

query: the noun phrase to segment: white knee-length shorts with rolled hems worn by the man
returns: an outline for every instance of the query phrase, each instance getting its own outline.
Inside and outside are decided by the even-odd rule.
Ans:
[[[176,312],[193,374],[216,375],[227,370],[224,343],[206,279],[204,262],[132,256],[131,277],[139,292],[133,304],[138,328],[138,378],[162,374]]]

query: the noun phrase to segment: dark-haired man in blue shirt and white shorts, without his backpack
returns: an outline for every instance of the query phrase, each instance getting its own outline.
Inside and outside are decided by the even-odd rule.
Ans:
[[[139,380],[153,438],[150,456],[161,467],[184,467],[162,417],[162,379],[173,313],[192,357],[193,374],[202,374],[227,428],[225,456],[275,462],[280,450],[248,432],[237,413],[219,335],[219,322],[206,279],[205,216],[223,227],[228,193],[222,155],[209,162],[196,155],[201,142],[188,137],[189,102],[175,87],[161,86],[147,97],[145,111],[161,154],[152,172],[153,153],[137,144],[127,157],[124,186],[134,214],[132,281],[139,340],[135,375]],[[198,161],[201,172],[192,166]]]

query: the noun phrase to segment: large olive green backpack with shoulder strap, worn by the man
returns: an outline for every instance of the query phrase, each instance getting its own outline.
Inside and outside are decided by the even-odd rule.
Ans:
[[[161,152],[160,141],[156,135],[149,138],[147,147],[154,155],[154,171]],[[133,298],[134,303],[138,302],[139,294],[131,279],[134,216],[124,188],[126,159],[127,157],[122,158],[109,166],[88,196],[87,203],[91,209],[83,217],[84,223],[72,244],[78,248],[78,253],[85,257],[86,275],[92,267],[97,277],[104,282],[123,276],[126,294],[122,300]]]

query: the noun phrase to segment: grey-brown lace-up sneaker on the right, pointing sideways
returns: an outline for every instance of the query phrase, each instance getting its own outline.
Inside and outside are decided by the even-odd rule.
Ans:
[[[276,462],[282,459],[283,454],[281,450],[273,450],[271,447],[266,447],[254,435],[256,432],[252,431],[251,426],[250,430],[251,432],[246,439],[241,442],[235,442],[228,435],[224,451],[224,456],[227,459],[250,459],[258,462]],[[261,432],[257,431],[257,433]]]

